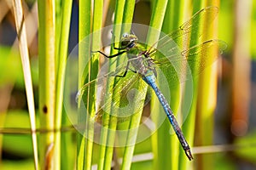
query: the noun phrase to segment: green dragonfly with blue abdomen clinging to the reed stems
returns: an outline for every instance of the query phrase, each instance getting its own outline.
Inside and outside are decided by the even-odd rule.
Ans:
[[[165,111],[169,122],[172,124],[173,130],[177,134],[177,139],[182,145],[185,155],[189,158],[189,161],[193,159],[189,144],[183,135],[182,129],[179,127],[177,123],[177,120],[172,112],[169,103],[167,102],[166,97],[160,91],[160,88],[157,85],[156,80],[158,77],[158,70],[163,69],[169,72],[169,78],[171,79],[171,81],[175,81],[178,78],[179,82],[184,82],[189,77],[199,74],[207,67],[207,65],[211,65],[212,62],[218,58],[219,53],[225,48],[224,42],[218,39],[211,39],[202,42],[201,44],[195,44],[196,40],[188,38],[189,35],[194,35],[195,33],[197,34],[198,37],[201,37],[205,30],[199,31],[199,28],[201,27],[200,21],[207,19],[209,20],[209,22],[211,22],[216,17],[217,14],[217,7],[207,7],[201,9],[199,12],[194,14],[190,20],[186,21],[182,26],[180,26],[177,29],[177,31],[173,31],[172,33],[166,34],[166,36],[164,37],[160,37],[160,39],[157,42],[155,42],[150,48],[146,48],[144,44],[138,42],[138,38],[133,32],[126,32],[120,38],[118,47],[116,47],[116,43],[113,42],[113,48],[119,50],[117,54],[108,55],[100,50],[97,51],[97,53],[102,54],[108,59],[116,58],[122,56],[123,54],[127,56],[127,62],[125,65],[120,65],[117,67],[116,71],[108,72],[106,75],[102,76],[119,77],[120,79],[124,78],[122,81],[119,81],[116,84],[116,86],[113,86],[113,89],[110,90],[115,91],[115,94],[117,95],[112,94],[112,99],[110,99],[109,102],[115,102],[116,105],[120,105],[123,102],[127,103],[127,101],[125,101],[121,94],[127,94],[127,89],[130,89],[131,86],[133,86],[138,79],[142,79],[143,82],[146,82],[145,84],[147,84],[151,89],[153,89],[154,94],[159,99],[160,104],[162,105],[162,108]],[[172,42],[182,45],[173,46]],[[189,47],[189,44],[195,45]],[[183,49],[183,47],[185,47],[185,49]],[[210,53],[210,51],[216,48],[218,48],[219,51],[216,54],[216,56],[213,58],[207,58],[207,55]],[[164,53],[162,52],[163,50],[165,50]],[[165,57],[155,57],[160,54],[165,54]],[[203,56],[203,58],[201,58],[201,56]],[[189,69],[189,72],[188,69],[184,69],[192,65],[194,65],[195,70],[197,71],[190,71]],[[121,72],[121,74],[119,72]],[[133,75],[131,76],[130,74],[130,77],[125,79],[125,77],[127,77],[128,73],[130,72]],[[99,84],[100,81],[101,78],[98,78],[96,80],[84,84],[84,86],[79,90],[78,96],[82,96],[84,94],[84,91],[88,90],[91,86],[96,86],[96,84]],[[111,93],[113,92],[109,92],[109,94]],[[146,93],[146,91],[144,91],[143,93]],[[106,93],[103,95],[108,96],[109,94]],[[132,94],[130,96],[130,99],[134,100],[134,96],[135,95]],[[143,99],[135,100],[141,101]],[[137,104],[139,102],[136,101],[133,101],[133,108],[142,109],[141,106]],[[107,113],[111,112],[110,110],[113,109],[111,108],[113,107],[113,105],[111,105],[110,107],[106,106],[106,103],[109,102],[107,101],[103,105],[100,105],[100,109],[98,112],[100,112],[101,110],[104,110]],[[128,103],[129,102],[132,101],[128,101]],[[130,111],[121,111],[120,109],[116,112],[119,112],[121,115],[115,116],[123,116],[122,114],[124,114],[125,116],[125,114],[127,114]],[[100,114],[96,113],[96,116],[100,116]]]

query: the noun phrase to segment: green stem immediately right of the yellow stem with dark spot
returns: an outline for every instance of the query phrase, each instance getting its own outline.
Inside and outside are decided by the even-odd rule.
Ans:
[[[65,0],[61,5],[61,16],[60,22],[56,24],[58,26],[59,31],[61,32],[56,36],[56,39],[59,40],[58,44],[55,45],[55,52],[57,55],[56,64],[57,73],[56,73],[56,105],[55,105],[55,129],[61,129],[61,120],[62,120],[62,103],[63,103],[63,89],[64,89],[64,79],[65,79],[65,69],[67,64],[67,50],[68,50],[68,37],[69,37],[69,28],[70,28],[70,18],[71,18],[71,9],[72,9],[73,0]],[[57,48],[58,47],[58,48]],[[72,166],[70,165],[67,153],[61,153],[61,132],[57,131],[55,133],[55,144],[56,144],[56,153],[60,156],[58,160],[60,160],[60,165],[64,167]],[[66,143],[65,143],[66,144]],[[70,144],[67,142],[67,144]],[[67,146],[66,146],[67,147]],[[60,155],[61,154],[61,155]]]

